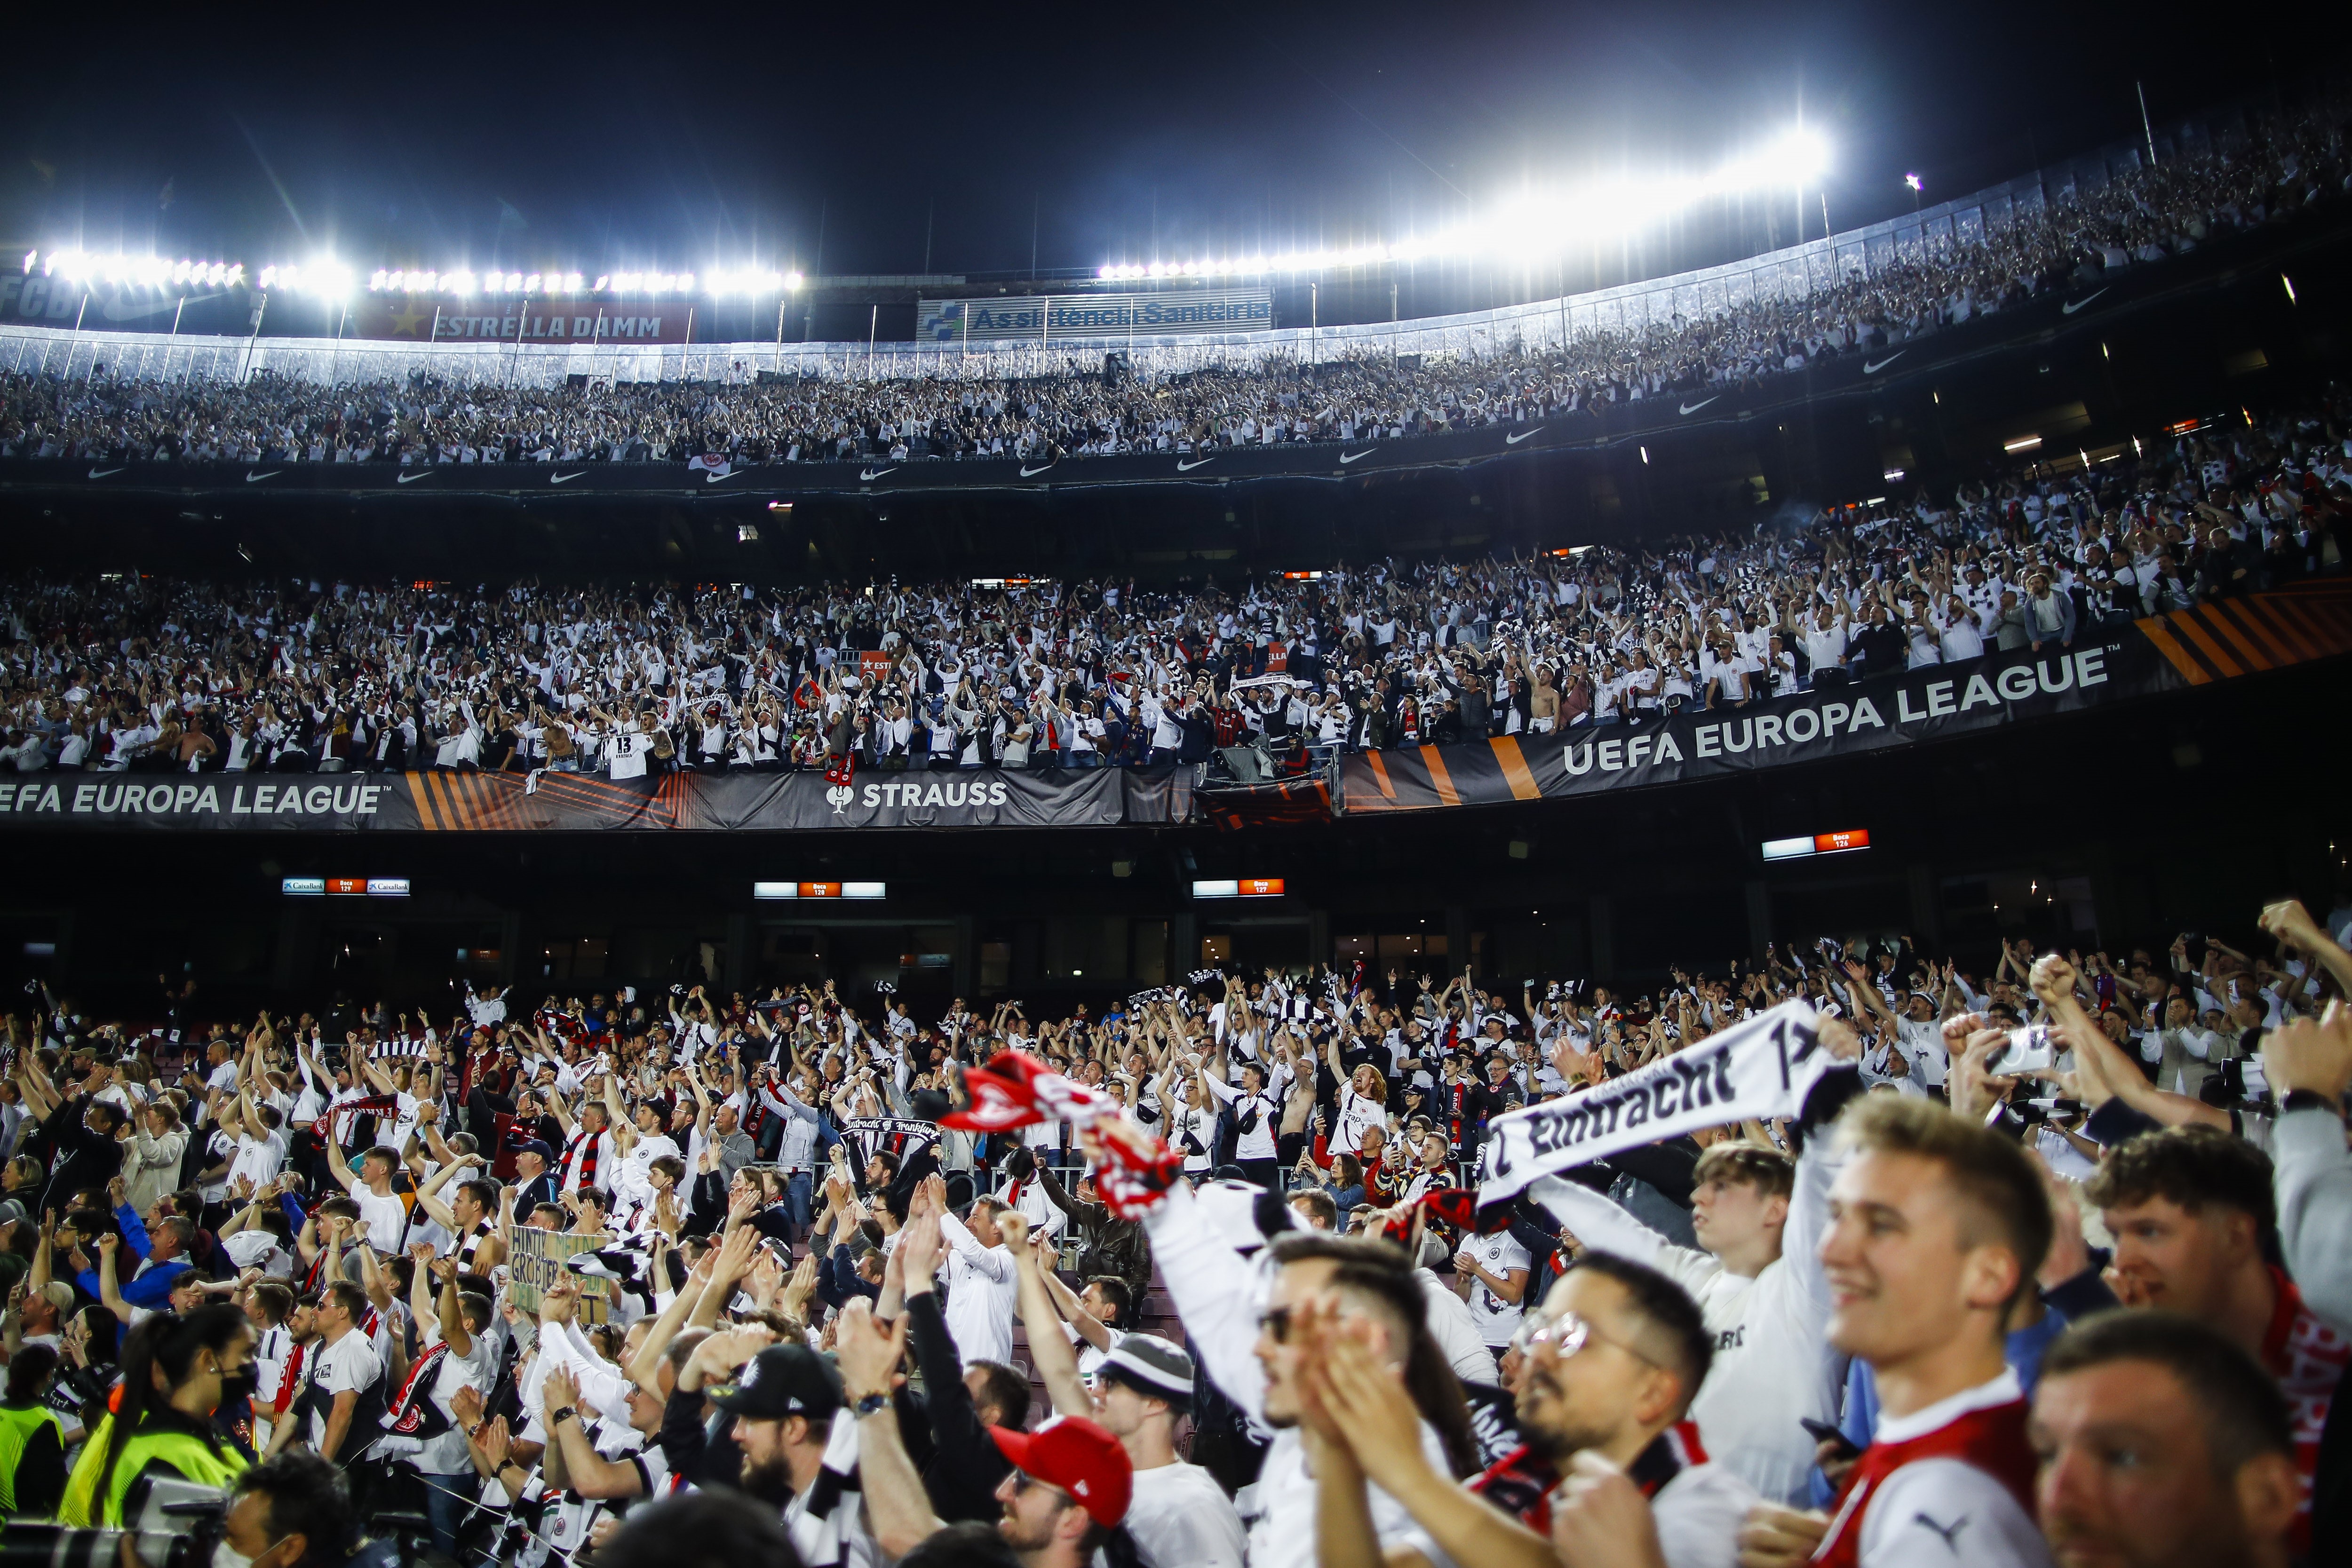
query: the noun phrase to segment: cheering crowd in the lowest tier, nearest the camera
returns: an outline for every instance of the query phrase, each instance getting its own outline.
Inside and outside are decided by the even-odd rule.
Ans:
[[[0,1512],[233,1488],[247,1568],[388,1507],[529,1568],[2343,1561],[2352,898],[2258,926],[1061,1020],[35,987]],[[1757,1020],[1828,1058],[1788,1114],[1482,1201],[1522,1107]]]

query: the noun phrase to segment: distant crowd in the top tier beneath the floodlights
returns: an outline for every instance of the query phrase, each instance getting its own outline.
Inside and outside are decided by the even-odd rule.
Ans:
[[[522,388],[492,381],[318,386],[0,374],[0,458],[103,463],[736,463],[1207,451],[1406,440],[1555,421],[1642,397],[1748,386],[2096,289],[2218,235],[2336,200],[2352,162],[2333,110],[2265,120],[2244,146],[2185,153],[1962,235],[1809,299],[1750,299],[1564,350],[1491,357],[1287,357],[1185,374],[1030,381],[826,378]]]

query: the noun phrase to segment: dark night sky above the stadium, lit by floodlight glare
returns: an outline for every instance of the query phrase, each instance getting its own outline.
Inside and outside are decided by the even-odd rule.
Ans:
[[[1037,266],[1091,270],[1395,237],[1524,181],[1698,172],[1799,113],[1837,148],[1830,216],[1849,228],[1907,209],[1910,169],[1936,200],[2138,134],[2136,78],[2161,120],[2291,82],[2345,42],[2340,12],[2321,35],[2056,5],[590,16],[19,14],[0,242],[249,263],[332,249],[362,270],[913,273],[929,228],[931,270],[988,273],[1030,266],[1035,214]],[[1628,266],[1788,242],[1790,221],[1726,209]]]

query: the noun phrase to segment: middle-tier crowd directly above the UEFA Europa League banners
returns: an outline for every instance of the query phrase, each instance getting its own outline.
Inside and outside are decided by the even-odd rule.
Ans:
[[[2352,559],[2340,395],[1745,538],[1185,588],[0,585],[0,762],[1103,766],[1566,733],[1962,663]]]

